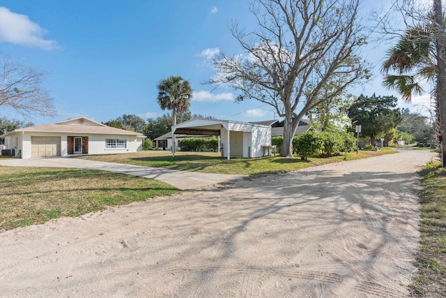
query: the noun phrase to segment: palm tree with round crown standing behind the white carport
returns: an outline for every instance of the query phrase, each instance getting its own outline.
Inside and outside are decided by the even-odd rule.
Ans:
[[[176,125],[176,114],[178,112],[187,112],[192,98],[192,88],[189,82],[179,75],[172,75],[167,79],[161,80],[157,84],[158,103],[162,110],[172,111],[172,126]]]

